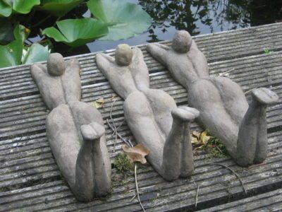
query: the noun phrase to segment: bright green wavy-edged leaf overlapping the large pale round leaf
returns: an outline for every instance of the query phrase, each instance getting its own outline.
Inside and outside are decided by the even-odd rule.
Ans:
[[[59,30],[46,28],[42,34],[52,37],[71,47],[79,47],[87,42],[108,34],[106,24],[93,18],[66,19],[56,22]]]

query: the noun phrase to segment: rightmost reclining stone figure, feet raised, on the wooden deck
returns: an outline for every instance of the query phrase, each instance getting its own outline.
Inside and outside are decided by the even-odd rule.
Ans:
[[[237,83],[209,76],[204,54],[184,30],[176,33],[171,47],[155,43],[147,45],[147,51],[188,90],[188,102],[200,111],[199,121],[223,141],[238,165],[245,167],[266,158],[266,106],[278,101],[276,93],[254,89],[249,106]]]

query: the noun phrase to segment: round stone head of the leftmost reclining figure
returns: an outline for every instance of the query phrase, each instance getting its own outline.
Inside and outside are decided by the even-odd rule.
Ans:
[[[59,53],[52,53],[47,59],[47,71],[51,76],[61,76],[66,71],[65,61]]]

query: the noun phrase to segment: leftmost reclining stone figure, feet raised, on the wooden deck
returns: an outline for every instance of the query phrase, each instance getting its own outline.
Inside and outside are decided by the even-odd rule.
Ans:
[[[33,64],[34,78],[51,112],[46,128],[51,151],[68,185],[80,201],[104,196],[111,187],[111,162],[102,115],[80,102],[80,66],[51,54],[47,66]]]

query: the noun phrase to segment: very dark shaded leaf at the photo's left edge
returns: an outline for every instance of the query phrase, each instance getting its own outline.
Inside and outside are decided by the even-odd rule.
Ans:
[[[13,25],[6,18],[0,18],[0,45],[7,45],[15,40],[13,36]]]

